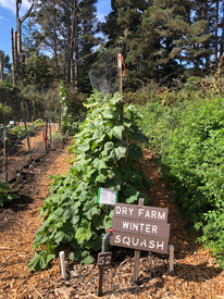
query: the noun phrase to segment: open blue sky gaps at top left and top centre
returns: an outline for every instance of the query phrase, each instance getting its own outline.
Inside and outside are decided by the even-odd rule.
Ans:
[[[0,50],[4,51],[11,58],[11,28],[16,30],[16,1],[0,0]],[[104,16],[111,11],[110,0],[98,0],[97,14],[99,21],[104,21]],[[22,0],[20,16],[22,17],[29,9],[30,3],[27,0]]]

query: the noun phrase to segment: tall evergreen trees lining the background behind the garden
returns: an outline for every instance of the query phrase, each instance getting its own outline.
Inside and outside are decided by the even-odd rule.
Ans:
[[[45,63],[49,79],[37,78],[41,72],[36,72],[38,84],[63,79],[77,92],[89,94],[88,72],[99,49],[121,41],[126,90],[151,79],[169,84],[177,77],[202,76],[224,52],[223,1],[111,0],[111,12],[102,23],[97,18],[97,0],[34,3],[23,28],[25,73],[18,74],[26,84],[34,80],[38,63]],[[4,74],[11,70],[5,54],[3,67]]]

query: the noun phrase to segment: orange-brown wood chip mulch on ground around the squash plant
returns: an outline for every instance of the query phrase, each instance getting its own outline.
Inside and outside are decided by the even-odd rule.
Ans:
[[[48,175],[64,174],[70,166],[66,161],[71,154],[65,150],[58,147],[39,162],[40,173],[32,175],[18,190],[21,199],[0,210],[0,299],[97,298],[99,270],[95,264],[67,261],[70,277],[65,282],[61,279],[59,258],[42,272],[27,270],[34,256],[35,232],[42,222],[37,219],[37,208],[48,194]],[[175,248],[174,272],[169,272],[169,256],[141,252],[141,285],[133,285],[134,251],[113,249],[112,265],[104,271],[103,298],[224,298],[224,271],[209,250],[203,251],[195,238],[187,235],[175,201],[169,196],[159,167],[147,150],[142,167],[152,180],[151,204],[169,208],[170,244]]]

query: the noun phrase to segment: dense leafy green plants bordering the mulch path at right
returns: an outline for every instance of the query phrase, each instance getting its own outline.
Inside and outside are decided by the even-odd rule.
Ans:
[[[170,107],[153,102],[142,113],[141,126],[161,154],[162,173],[187,229],[200,229],[199,241],[224,267],[224,99],[194,98]]]

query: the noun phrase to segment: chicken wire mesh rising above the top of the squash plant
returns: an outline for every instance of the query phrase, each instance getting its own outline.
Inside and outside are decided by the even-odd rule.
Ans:
[[[121,60],[123,43],[116,43],[103,50],[100,59],[89,71],[92,89],[101,91],[103,96],[121,91]]]

